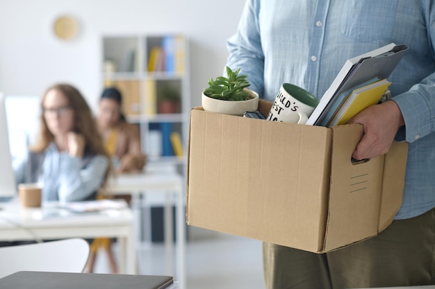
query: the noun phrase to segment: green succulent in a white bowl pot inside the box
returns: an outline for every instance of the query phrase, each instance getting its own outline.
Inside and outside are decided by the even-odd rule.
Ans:
[[[227,67],[227,77],[208,80],[208,87],[202,91],[204,110],[237,116],[257,110],[258,94],[247,88],[247,76],[239,76],[239,72],[240,68],[232,71]]]

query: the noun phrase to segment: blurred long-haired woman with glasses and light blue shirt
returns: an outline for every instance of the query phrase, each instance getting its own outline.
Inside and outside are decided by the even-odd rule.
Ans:
[[[41,100],[36,143],[15,165],[17,184],[42,184],[42,200],[93,200],[104,186],[110,157],[88,103],[75,87],[49,87]]]

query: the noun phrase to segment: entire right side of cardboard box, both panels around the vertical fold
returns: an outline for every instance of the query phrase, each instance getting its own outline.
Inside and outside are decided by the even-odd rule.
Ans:
[[[334,130],[329,216],[323,251],[376,236],[391,224],[402,204],[407,143],[394,142],[379,157],[352,164],[362,125]],[[381,192],[376,193],[376,192]]]

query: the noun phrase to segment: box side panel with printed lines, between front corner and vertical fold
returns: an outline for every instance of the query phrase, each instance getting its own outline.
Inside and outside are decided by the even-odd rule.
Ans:
[[[362,125],[340,125],[334,131],[331,155],[329,219],[324,251],[375,236],[384,157],[352,163],[363,135]]]

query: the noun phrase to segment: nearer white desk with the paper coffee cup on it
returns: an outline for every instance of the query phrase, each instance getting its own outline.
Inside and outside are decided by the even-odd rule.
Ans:
[[[0,203],[0,240],[58,238],[117,238],[120,272],[136,274],[136,240],[131,209],[110,209],[97,213],[71,213],[58,202],[41,208],[23,209],[17,200]]]

